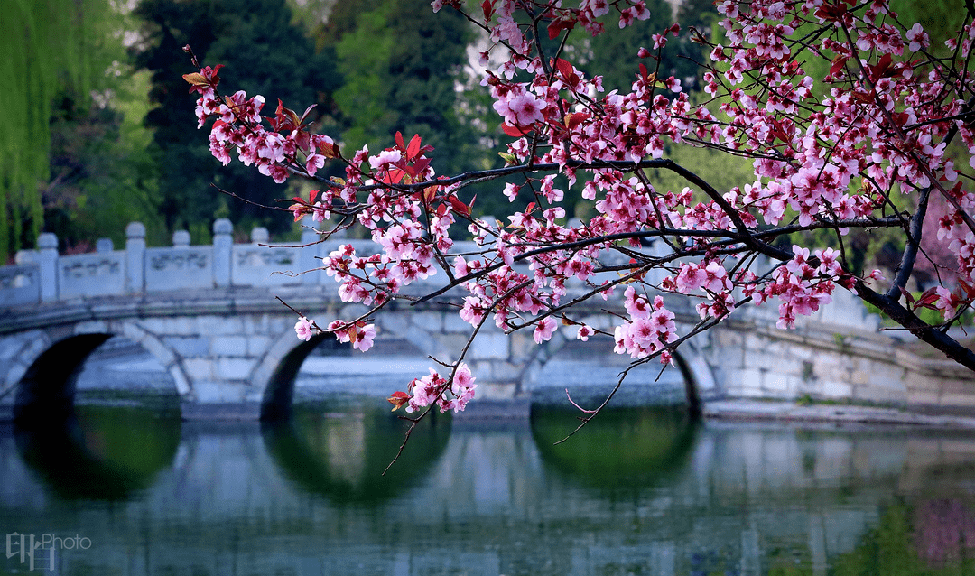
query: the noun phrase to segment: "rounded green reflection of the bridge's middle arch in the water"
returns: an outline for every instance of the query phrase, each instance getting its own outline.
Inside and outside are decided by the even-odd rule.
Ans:
[[[292,418],[261,427],[267,451],[299,489],[335,503],[376,504],[402,494],[443,453],[450,417],[430,414],[396,457],[408,422],[372,399],[299,404]]]

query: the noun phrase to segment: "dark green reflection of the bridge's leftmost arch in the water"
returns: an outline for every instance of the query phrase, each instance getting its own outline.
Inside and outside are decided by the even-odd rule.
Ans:
[[[179,420],[145,408],[78,406],[67,420],[14,428],[23,463],[61,500],[124,501],[173,465]]]

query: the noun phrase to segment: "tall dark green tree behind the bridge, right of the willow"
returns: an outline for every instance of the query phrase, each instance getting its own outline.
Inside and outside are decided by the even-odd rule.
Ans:
[[[189,228],[206,241],[216,216],[241,226],[261,224],[274,232],[289,229],[288,214],[229,200],[211,186],[258,205],[289,196],[286,185],[233,163],[224,168],[210,154],[196,125],[192,97],[182,74],[192,71],[183,47],[190,45],[204,64],[224,64],[221,76],[249,96],[266,98],[265,113],[278,99],[290,107],[322,104],[328,113],[337,86],[333,58],[316,51],[306,31],[292,23],[285,0],[143,0],[137,15],[145,38],[137,64],[151,71],[146,117],[154,131],[152,153],[159,166],[161,211],[169,229]],[[320,113],[321,113],[320,112]]]

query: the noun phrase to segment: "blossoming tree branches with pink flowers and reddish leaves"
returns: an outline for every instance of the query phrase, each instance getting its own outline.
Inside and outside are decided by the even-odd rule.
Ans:
[[[614,292],[622,292],[625,314],[612,316],[615,329],[603,333],[633,365],[672,363],[685,338],[743,306],[778,306],[778,326],[791,328],[846,289],[975,369],[975,354],[947,332],[975,298],[972,14],[956,36],[937,39],[944,48],[935,50],[919,24],[901,22],[884,0],[722,0],[722,44],[690,31],[711,48],[710,61],[700,62],[707,96],[694,102],[680,80],[658,75],[661,51],[679,24],[660,30],[653,46],[634,46],[632,61],[619,63],[634,73],[625,94],[605,94],[602,78],[586,77],[562,48],[546,53],[553,41],[564,47],[569,34],[609,34],[648,17],[642,0],[567,3],[485,0],[464,13],[492,42],[481,55],[482,85],[511,137],[502,154],[506,166],[494,170],[439,174],[435,150],[419,134],[409,141],[396,134],[395,145],[374,153],[368,146],[345,150],[328,135],[312,134],[307,111],[298,116],[279,102],[265,117],[262,96],[222,95],[220,66],[201,67],[193,58],[201,69],[185,78],[199,94],[199,127],[210,123],[214,156],[224,165],[236,157],[276,182],[319,180],[309,198],[294,199],[295,219],[329,221],[326,238],[358,222],[381,247],[359,254],[344,245],[324,259],[341,299],[368,312],[327,325],[300,316],[299,338],[329,332],[366,351],[375,334],[370,320],[407,298],[402,288],[443,273],[443,288],[409,299],[465,290],[458,313],[471,335],[459,357],[439,361],[439,370],[389,399],[394,409],[420,413],[410,419],[434,406],[462,410],[474,398],[475,376],[464,359],[487,322],[505,332],[532,330],[539,344],[560,323],[587,340],[602,330],[573,317],[573,307]],[[464,11],[459,0],[432,5]],[[817,59],[826,62],[825,76],[805,71]],[[716,189],[667,159],[665,145],[750,158],[754,178]],[[318,174],[327,162],[340,163],[345,177]],[[656,188],[649,169],[677,173],[686,187]],[[499,193],[530,204],[503,221],[475,217],[473,203],[458,191],[498,178],[506,178]],[[559,203],[571,186],[596,215],[568,223]],[[921,231],[934,196],[950,207],[937,236],[956,266],[941,270],[940,284],[916,297],[907,286],[917,259],[927,257]],[[898,209],[902,197],[916,208]],[[853,270],[844,242],[851,229],[881,227],[905,240],[890,279]],[[454,250],[464,228],[479,250]],[[778,248],[777,239],[814,230],[829,231],[834,248]],[[648,250],[651,242],[664,253]],[[773,262],[770,269],[757,264],[760,257]],[[648,274],[654,270],[662,271],[661,282],[649,280],[661,278]],[[569,295],[572,277],[585,289]],[[697,326],[678,333],[661,296],[668,293],[698,301]],[[918,308],[939,311],[942,321],[923,322]]]

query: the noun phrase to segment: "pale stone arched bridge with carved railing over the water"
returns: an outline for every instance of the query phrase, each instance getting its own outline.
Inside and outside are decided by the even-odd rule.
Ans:
[[[176,232],[173,247],[146,248],[144,227],[133,223],[125,250],[100,241],[97,252],[70,256],[59,256],[57,238],[43,234],[40,250],[21,251],[17,264],[0,267],[0,420],[63,417],[73,403],[71,375],[113,335],[137,342],[166,367],[184,418],[287,413],[294,375],[322,338],[295,338],[294,315],[275,296],[323,321],[355,318],[364,309],[341,302],[325,274],[281,274],[315,268],[338,241],[271,249],[259,246],[267,241],[261,228],[251,244],[233,244],[231,231],[229,221],[217,220],[213,246],[189,246],[189,235]],[[302,244],[315,239],[309,230]],[[351,242],[361,243],[361,252],[373,246]],[[775,327],[774,307],[749,307],[684,343],[678,364],[691,409],[714,399],[808,396],[975,411],[970,372],[917,357],[878,332],[878,319],[852,296],[838,296],[795,330]],[[446,300],[387,308],[376,319],[377,347],[405,340],[423,356],[454,357],[470,326]],[[690,301],[669,299],[668,306],[683,330],[696,320]],[[611,302],[600,299],[576,318],[608,328],[606,307]],[[553,378],[544,370],[550,359],[581,351],[568,331],[574,334],[563,329],[537,346],[528,331],[506,336],[485,326],[467,357],[479,398],[524,400],[545,384],[543,373]],[[593,346],[613,356],[611,346]]]

